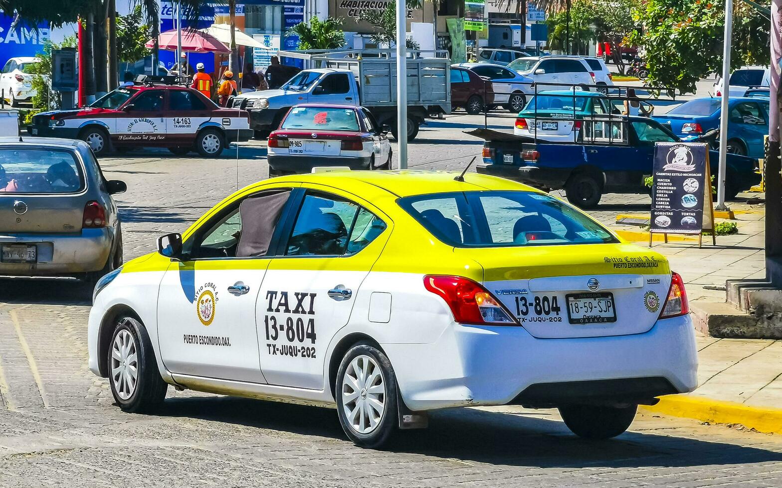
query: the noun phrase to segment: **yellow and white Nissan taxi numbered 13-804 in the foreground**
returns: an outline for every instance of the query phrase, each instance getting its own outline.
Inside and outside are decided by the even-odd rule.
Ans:
[[[606,438],[694,390],[687,312],[662,255],[531,187],[316,171],[237,191],[99,281],[89,366],[124,411],[169,385],[325,404],[367,447],[474,405]]]

